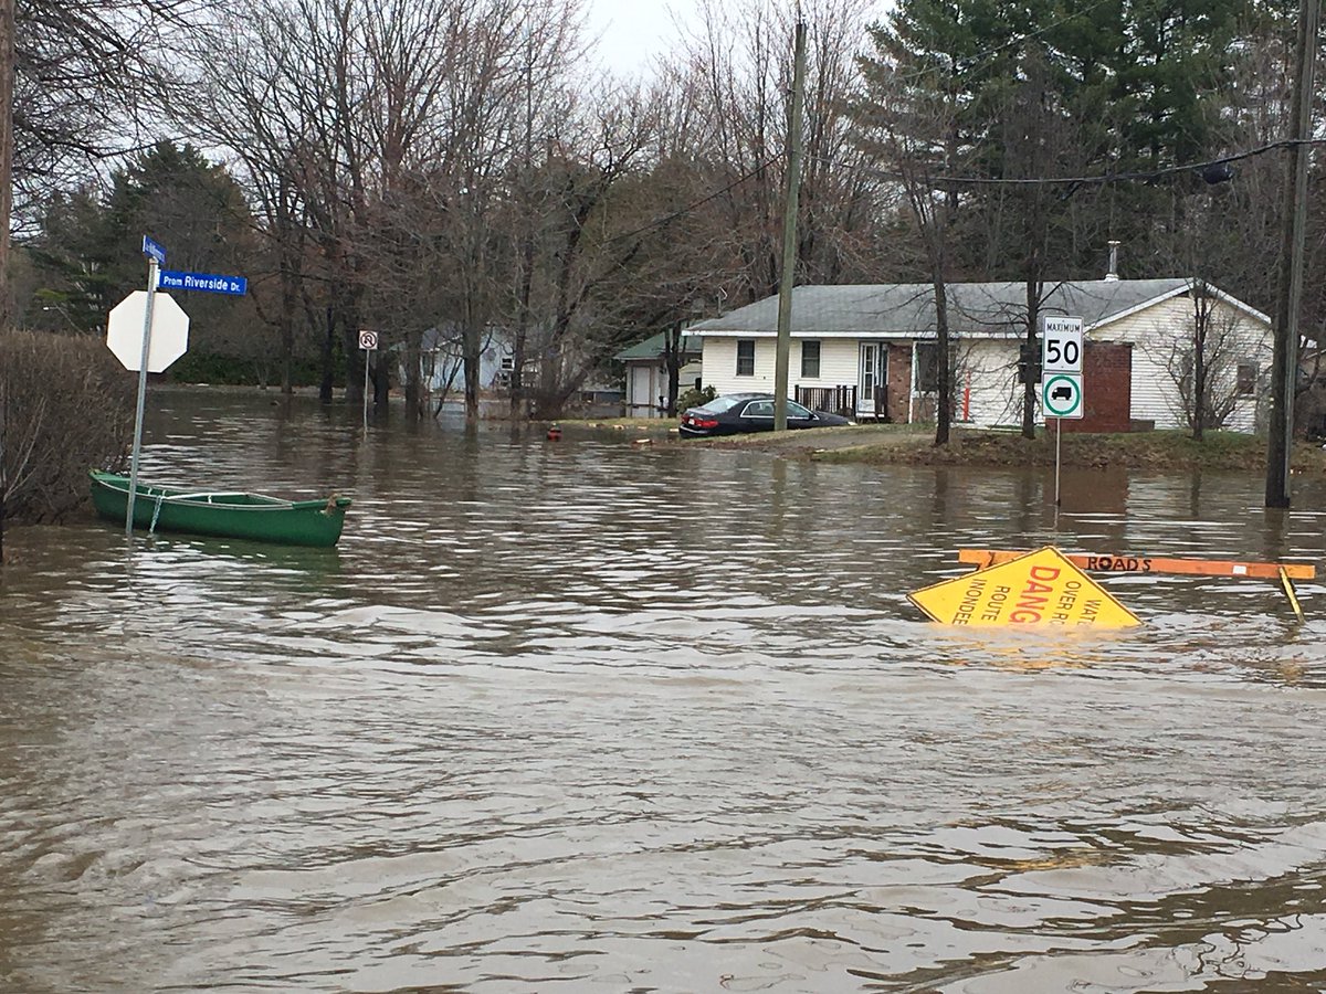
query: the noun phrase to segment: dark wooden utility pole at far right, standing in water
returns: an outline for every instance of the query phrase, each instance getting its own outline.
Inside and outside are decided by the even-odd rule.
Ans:
[[[1266,440],[1266,506],[1288,508],[1294,451],[1294,394],[1298,388],[1298,310],[1303,298],[1303,232],[1307,227],[1307,140],[1311,138],[1313,74],[1321,0],[1298,3],[1294,53],[1294,140],[1289,160],[1280,286],[1276,293],[1274,353],[1270,366],[1270,435]]]

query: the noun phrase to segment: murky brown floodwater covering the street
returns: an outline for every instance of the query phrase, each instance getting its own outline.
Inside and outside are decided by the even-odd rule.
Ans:
[[[956,550],[1323,565],[1326,484],[870,469],[160,392],[337,550],[11,530],[0,989],[1326,986],[1326,586],[930,624]]]

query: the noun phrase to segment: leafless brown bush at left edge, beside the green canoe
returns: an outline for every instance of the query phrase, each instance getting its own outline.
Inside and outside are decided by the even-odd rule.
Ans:
[[[60,521],[89,469],[122,468],[137,384],[101,338],[0,333],[0,514]]]

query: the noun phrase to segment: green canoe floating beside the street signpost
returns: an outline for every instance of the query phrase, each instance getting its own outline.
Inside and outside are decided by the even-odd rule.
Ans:
[[[125,522],[129,477],[91,470],[91,502],[109,521]],[[134,526],[151,531],[251,538],[282,545],[334,546],[349,497],[285,501],[256,493],[215,493],[138,484]]]

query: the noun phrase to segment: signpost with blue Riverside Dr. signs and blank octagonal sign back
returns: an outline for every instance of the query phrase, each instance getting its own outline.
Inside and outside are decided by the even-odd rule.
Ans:
[[[166,249],[143,236],[147,257],[147,289],[134,290],[110,311],[106,321],[106,346],[121,364],[138,372],[138,407],[134,416],[134,451],[129,464],[129,500],[125,509],[125,534],[134,534],[134,497],[138,493],[138,459],[143,445],[143,407],[147,398],[147,374],[163,372],[188,351],[188,314],[172,297],[158,290],[203,290],[206,293],[244,294],[248,281],[241,276],[180,273],[166,265]]]

